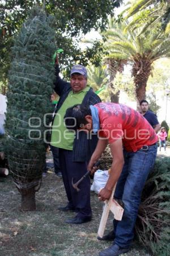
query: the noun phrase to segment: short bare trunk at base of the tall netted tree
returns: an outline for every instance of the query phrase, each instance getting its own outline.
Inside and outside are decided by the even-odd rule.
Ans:
[[[22,210],[36,210],[36,201],[35,201],[35,187],[28,189],[19,189],[19,192],[22,195]]]

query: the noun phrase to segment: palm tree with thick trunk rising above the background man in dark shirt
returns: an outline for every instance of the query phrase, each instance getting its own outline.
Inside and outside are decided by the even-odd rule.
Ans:
[[[120,28],[109,31],[110,57],[132,63],[137,103],[146,97],[146,85],[151,74],[152,63],[162,57],[170,57],[170,39],[155,28],[152,31],[125,31],[126,21]]]

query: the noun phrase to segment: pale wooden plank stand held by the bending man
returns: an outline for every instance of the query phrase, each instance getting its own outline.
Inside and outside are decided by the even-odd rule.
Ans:
[[[100,220],[99,229],[97,232],[97,237],[100,237],[100,238],[103,237],[110,210],[114,214],[115,220],[121,221],[122,219],[124,208],[122,208],[120,204],[118,204],[117,201],[113,199],[115,188],[116,188],[116,185],[114,185],[110,199],[105,200],[104,202],[104,208],[103,208],[103,213]]]

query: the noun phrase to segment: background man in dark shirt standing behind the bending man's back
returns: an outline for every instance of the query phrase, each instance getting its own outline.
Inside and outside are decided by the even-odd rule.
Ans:
[[[143,117],[147,119],[150,125],[154,128],[155,133],[158,133],[158,131],[160,130],[158,118],[153,112],[148,110],[148,102],[146,100],[142,100],[140,102],[140,106],[141,106],[141,114],[143,115]]]

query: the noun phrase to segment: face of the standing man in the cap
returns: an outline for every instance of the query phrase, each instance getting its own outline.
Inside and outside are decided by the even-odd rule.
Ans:
[[[83,75],[75,73],[71,75],[70,84],[73,92],[78,93],[87,86],[87,79]]]

